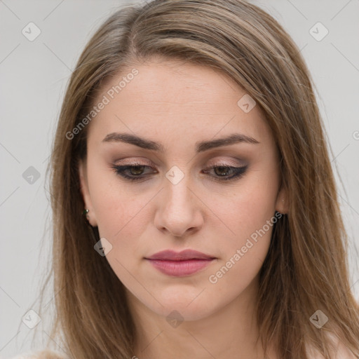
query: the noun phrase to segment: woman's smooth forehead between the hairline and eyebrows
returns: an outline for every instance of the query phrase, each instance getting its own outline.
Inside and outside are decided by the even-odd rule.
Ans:
[[[259,106],[243,110],[250,99],[245,90],[202,65],[162,60],[128,67],[102,85],[97,102],[104,97],[107,104],[90,123],[89,137],[97,140],[119,130],[146,137],[177,133],[207,139],[233,130],[261,140],[271,136]]]

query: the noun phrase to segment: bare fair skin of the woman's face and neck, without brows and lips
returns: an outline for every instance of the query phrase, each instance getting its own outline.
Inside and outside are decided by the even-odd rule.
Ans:
[[[245,91],[209,67],[175,60],[136,66],[126,83],[88,128],[88,157],[79,166],[81,192],[92,226],[112,245],[107,260],[126,287],[138,339],[138,358],[264,358],[255,325],[258,273],[269,249],[270,229],[217,283],[209,277],[262,229],[275,210],[286,212],[278,151],[259,106],[245,113]],[[112,77],[103,93],[123,75]],[[123,142],[102,142],[109,133],[130,133],[161,142],[163,153]],[[198,141],[242,133],[257,144],[236,143],[196,154]],[[111,168],[134,161],[151,168],[128,182]],[[242,177],[221,182],[211,166],[248,165]],[[184,174],[172,184],[166,172]],[[225,172],[231,177],[234,172]],[[211,180],[212,179],[212,180]],[[252,241],[253,242],[253,241]],[[187,248],[216,257],[186,277],[167,276],[144,257]],[[173,327],[166,317],[177,311]],[[277,358],[271,351],[269,358]]]

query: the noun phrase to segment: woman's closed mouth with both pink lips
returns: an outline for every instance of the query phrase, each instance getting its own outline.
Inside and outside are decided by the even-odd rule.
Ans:
[[[179,277],[197,273],[217,258],[195,250],[184,250],[182,252],[164,250],[144,259],[161,273]]]

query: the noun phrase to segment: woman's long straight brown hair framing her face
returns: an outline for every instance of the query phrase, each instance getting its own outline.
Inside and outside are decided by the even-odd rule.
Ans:
[[[332,358],[332,333],[359,355],[359,307],[348,280],[347,236],[313,81],[283,27],[244,0],[124,6],[83,50],[50,161],[56,316],[48,342],[54,339],[76,359],[133,356],[136,333],[123,284],[94,250],[99,233],[81,215],[78,163],[86,159],[88,128],[81,121],[109,76],[155,55],[230,76],[264,111],[276,140],[289,208],[273,228],[260,272],[257,318],[264,348],[273,343],[280,359],[309,359],[311,346]],[[76,126],[81,130],[74,134]],[[310,320],[317,310],[329,318],[321,329]]]

